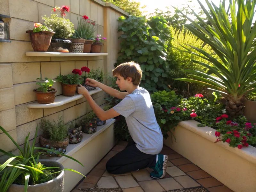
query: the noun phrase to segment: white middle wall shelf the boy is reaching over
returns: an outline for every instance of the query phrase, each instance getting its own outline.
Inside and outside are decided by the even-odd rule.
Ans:
[[[102,91],[102,89],[97,87],[96,89],[94,89],[92,91],[89,91],[89,93],[90,93],[90,95],[93,95],[93,94],[101,92],[101,91]],[[82,99],[83,97],[84,97],[84,95],[77,94],[77,93],[73,97],[66,97],[64,95],[59,95],[59,96],[55,97],[55,100],[54,100],[53,103],[41,104],[41,103],[37,103],[37,101],[36,101],[34,103],[28,104],[28,108],[54,108],[54,107],[60,107],[61,105],[70,103],[70,102],[75,101],[75,100]]]

